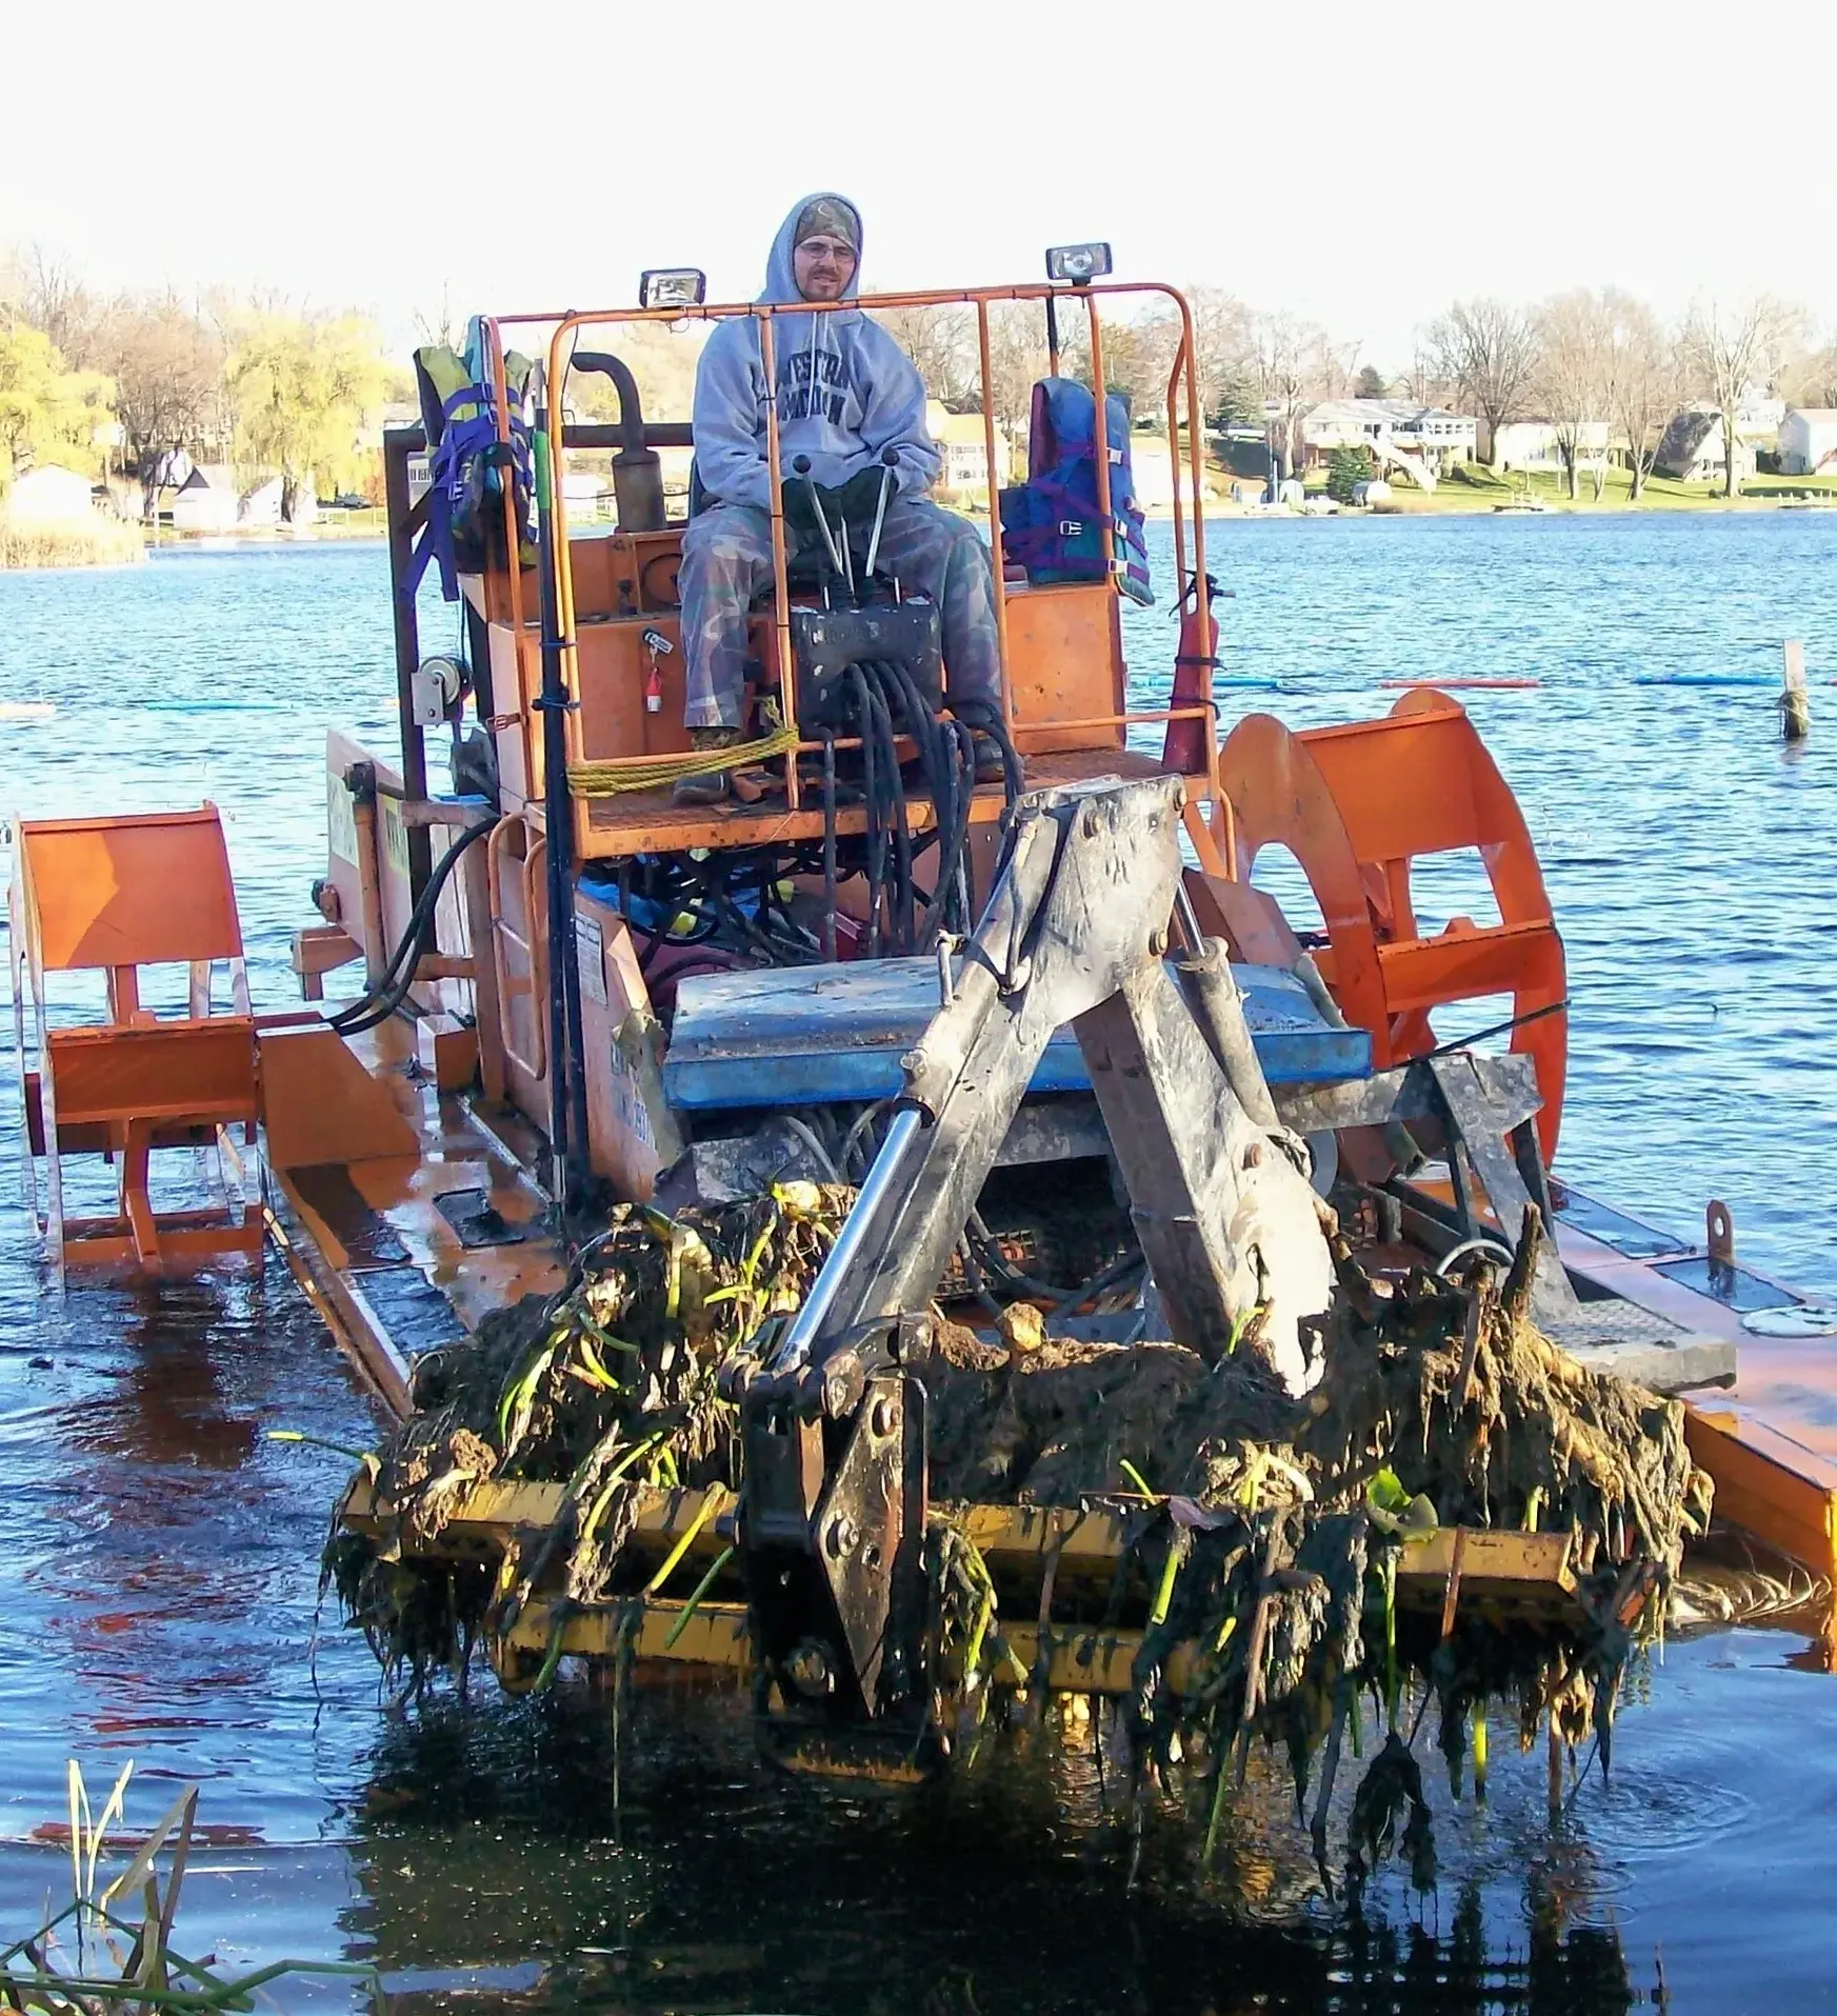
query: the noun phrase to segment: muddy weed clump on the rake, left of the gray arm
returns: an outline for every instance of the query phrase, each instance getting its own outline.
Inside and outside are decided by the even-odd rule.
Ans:
[[[782,1322],[823,1266],[851,1191],[780,1183],[676,1218],[621,1204],[550,1296],[524,1296],[415,1365],[413,1415],[365,1458],[381,1540],[335,1528],[323,1581],[385,1675],[417,1695],[464,1679],[561,1570],[575,1603],[617,1593],[643,1488],[738,1484],[736,1411],[718,1371]],[[557,1524],[498,1562],[452,1558],[440,1536],[470,1486],[561,1484]]]

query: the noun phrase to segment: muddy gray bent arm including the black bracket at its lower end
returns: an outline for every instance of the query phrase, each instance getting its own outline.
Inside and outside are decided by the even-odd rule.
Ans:
[[[1331,1286],[1313,1191],[1246,1115],[1164,958],[1184,790],[1159,776],[1016,804],[1006,867],[903,1060],[901,1109],[855,1208],[782,1343],[746,1371],[740,1544],[780,1704],[760,1738],[784,1762],[829,1768],[845,1744],[859,1768],[879,1744],[883,1768],[903,1770],[936,1746],[915,1312],[1057,1028],[1077,1030],[1176,1341],[1216,1359],[1260,1312],[1260,1349],[1305,1383],[1301,1325]],[[1234,1002],[1218,990],[1208,1018],[1240,1014]]]

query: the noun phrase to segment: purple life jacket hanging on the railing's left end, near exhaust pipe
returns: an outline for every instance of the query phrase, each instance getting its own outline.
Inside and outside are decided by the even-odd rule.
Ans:
[[[504,353],[504,391],[510,401],[510,442],[504,444],[498,439],[498,401],[480,325],[472,323],[464,355],[446,343],[425,343],[415,351],[415,389],[427,435],[432,488],[427,530],[403,581],[405,595],[415,593],[430,560],[440,562],[440,591],[450,603],[460,599],[460,575],[482,575],[492,562],[504,562],[506,468],[518,560],[524,566],[536,564],[530,435],[524,421],[532,369],[528,357]]]

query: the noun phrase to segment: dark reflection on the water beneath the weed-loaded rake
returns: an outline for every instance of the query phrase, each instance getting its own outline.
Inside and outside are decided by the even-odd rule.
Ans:
[[[617,1784],[617,1800],[615,1800]],[[1637,2000],[1613,1923],[1577,1923],[1593,1859],[1506,1820],[1466,1877],[1325,1905],[1289,1788],[1254,1770],[1212,1873],[1198,1833],[1127,1820],[1089,1752],[1010,1736],[917,1796],[762,1776],[734,1693],[639,1699],[615,1778],[603,1702],[448,1706],[373,1758],[349,1951],[458,1980],[540,1964],[536,2010],[1526,2010]],[[1446,1923],[1442,1923],[1446,1913]]]

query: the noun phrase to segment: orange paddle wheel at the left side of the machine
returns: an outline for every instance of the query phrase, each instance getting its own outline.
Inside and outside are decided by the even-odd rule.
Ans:
[[[139,968],[190,968],[188,1014],[141,1006]],[[230,970],[234,1008],[212,1012],[212,972]],[[109,1018],[50,1028],[44,978],[107,976]],[[155,1147],[175,1135],[244,1127],[260,1113],[256,1026],[242,966],[242,925],[216,806],[121,818],[18,825],[12,889],[14,1042],[26,1066],[26,1006],[36,1050],[46,1212],[32,1210],[52,1260],[137,1260],[163,1268],[198,1252],[252,1252],[258,1206],[244,1195],[224,1214],[159,1214],[147,1181]],[[113,1218],[65,1216],[65,1153],[103,1147],[119,1163]]]

